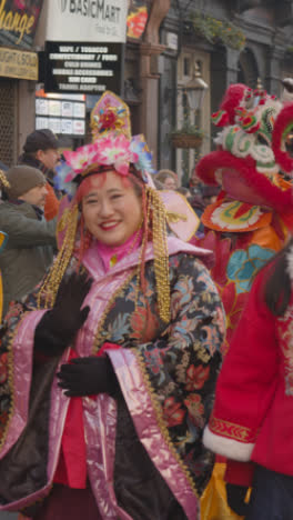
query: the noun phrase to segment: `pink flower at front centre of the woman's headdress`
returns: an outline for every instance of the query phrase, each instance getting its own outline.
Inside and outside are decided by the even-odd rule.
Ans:
[[[129,163],[137,162],[139,159],[138,153],[130,149],[131,141],[123,134],[102,138],[97,143],[99,164],[113,164],[113,168],[122,176],[129,173]]]

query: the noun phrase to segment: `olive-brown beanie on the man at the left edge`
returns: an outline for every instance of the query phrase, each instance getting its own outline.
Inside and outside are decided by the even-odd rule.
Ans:
[[[27,166],[17,166],[6,172],[6,178],[10,187],[4,187],[9,199],[18,199],[27,191],[40,184],[46,184],[47,180],[43,173],[37,168]]]

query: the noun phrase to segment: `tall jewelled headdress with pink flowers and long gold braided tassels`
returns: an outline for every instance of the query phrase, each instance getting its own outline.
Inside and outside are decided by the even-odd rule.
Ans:
[[[144,222],[142,260],[148,236],[151,234],[154,251],[154,273],[159,313],[163,321],[170,320],[169,253],[166,242],[166,209],[154,189],[150,173],[152,156],[143,136],[131,138],[128,106],[112,92],[104,92],[91,113],[92,143],[77,151],[64,151],[67,171],[64,183],[71,184],[71,202],[59,221],[58,232],[62,233],[59,254],[41,288],[39,301],[44,304],[54,301],[58,287],[72,258],[80,229],[79,204],[74,192],[84,178],[114,169],[120,176],[132,176],[143,187]],[[151,229],[150,229],[151,223]],[[150,233],[151,231],[151,233]],[[143,269],[139,266],[138,278],[143,286]],[[139,280],[138,280],[139,283]],[[142,287],[143,289],[143,287]]]

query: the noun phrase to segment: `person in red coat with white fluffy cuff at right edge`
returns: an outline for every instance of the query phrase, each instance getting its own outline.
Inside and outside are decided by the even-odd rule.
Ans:
[[[203,436],[230,459],[228,501],[245,520],[293,518],[292,283],[293,240],[254,280]]]

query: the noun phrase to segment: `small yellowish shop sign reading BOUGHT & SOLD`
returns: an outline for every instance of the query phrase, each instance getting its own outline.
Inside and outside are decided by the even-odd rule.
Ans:
[[[0,47],[0,77],[38,81],[39,60],[37,52]]]

